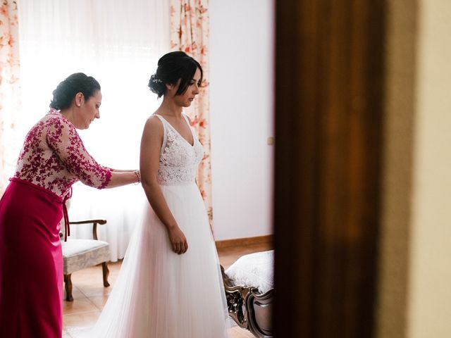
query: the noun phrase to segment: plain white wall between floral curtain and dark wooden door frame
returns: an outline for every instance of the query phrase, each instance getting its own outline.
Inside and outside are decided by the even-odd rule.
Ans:
[[[273,0],[211,0],[216,240],[272,233]]]

